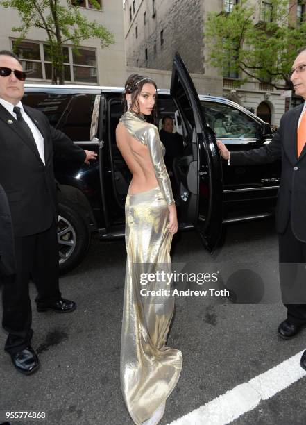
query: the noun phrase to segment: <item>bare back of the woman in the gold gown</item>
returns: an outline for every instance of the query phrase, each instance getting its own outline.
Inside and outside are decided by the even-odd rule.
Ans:
[[[146,192],[158,186],[148,147],[133,138],[122,122],[116,128],[116,142],[133,175],[129,193]]]

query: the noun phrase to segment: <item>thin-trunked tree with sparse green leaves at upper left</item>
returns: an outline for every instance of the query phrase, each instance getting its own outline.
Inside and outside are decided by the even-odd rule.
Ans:
[[[64,6],[64,3],[67,3]],[[92,6],[100,8],[96,0],[90,0]],[[98,22],[90,22],[78,8],[78,0],[5,0],[0,1],[4,8],[15,8],[22,21],[20,26],[12,28],[19,33],[14,50],[26,38],[31,28],[42,28],[46,31],[46,44],[52,63],[52,83],[64,83],[65,44],[76,48],[82,40],[99,39],[101,47],[114,44],[113,35]]]

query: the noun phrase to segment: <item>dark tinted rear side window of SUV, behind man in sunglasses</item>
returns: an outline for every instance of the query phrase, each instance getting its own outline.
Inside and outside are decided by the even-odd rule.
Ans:
[[[78,142],[89,140],[94,99],[95,94],[26,92],[22,102],[40,110],[51,126]]]

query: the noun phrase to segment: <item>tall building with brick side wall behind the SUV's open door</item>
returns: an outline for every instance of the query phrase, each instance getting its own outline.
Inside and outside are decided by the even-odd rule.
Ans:
[[[170,73],[173,55],[180,53],[193,75],[198,92],[228,97],[252,110],[266,122],[279,124],[285,110],[281,90],[269,83],[249,81],[235,84],[239,75],[220,72],[208,63],[203,33],[209,12],[230,12],[238,0],[126,0],[124,28],[126,65]],[[255,22],[269,19],[271,0],[248,0],[255,5]],[[290,9],[291,21],[298,22],[305,10],[303,1]],[[159,83],[159,81],[157,81]],[[168,80],[169,82],[169,80]],[[163,86],[164,87],[164,86]]]

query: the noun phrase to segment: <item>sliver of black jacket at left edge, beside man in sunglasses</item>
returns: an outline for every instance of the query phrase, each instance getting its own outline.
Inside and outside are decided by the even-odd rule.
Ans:
[[[0,276],[14,274],[16,269],[12,220],[6,192],[0,185]]]

